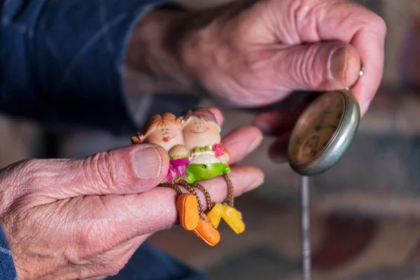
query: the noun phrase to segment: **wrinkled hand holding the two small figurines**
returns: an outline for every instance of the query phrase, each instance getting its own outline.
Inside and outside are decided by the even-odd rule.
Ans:
[[[230,163],[261,138],[255,127],[228,134],[223,143]],[[174,191],[153,188],[168,167],[163,148],[136,144],[78,160],[25,160],[2,169],[0,223],[19,279],[116,274],[147,237],[177,221]],[[258,187],[263,175],[253,167],[233,167],[231,178],[240,195]],[[226,199],[223,179],[203,185],[215,201]]]

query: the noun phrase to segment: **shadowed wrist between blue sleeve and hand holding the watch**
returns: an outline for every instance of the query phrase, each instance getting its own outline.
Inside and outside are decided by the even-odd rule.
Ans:
[[[193,91],[193,79],[179,55],[180,29],[188,15],[183,9],[157,8],[134,27],[125,57],[124,83],[129,97]]]

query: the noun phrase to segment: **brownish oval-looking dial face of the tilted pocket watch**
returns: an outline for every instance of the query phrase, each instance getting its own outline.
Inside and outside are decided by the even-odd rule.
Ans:
[[[306,165],[328,148],[342,123],[346,99],[342,92],[327,92],[304,111],[289,141],[289,160]]]

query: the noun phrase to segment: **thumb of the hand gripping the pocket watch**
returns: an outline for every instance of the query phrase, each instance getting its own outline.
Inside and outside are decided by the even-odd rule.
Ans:
[[[339,90],[356,83],[360,57],[352,45],[329,42],[295,45],[274,63],[279,84],[291,90]]]

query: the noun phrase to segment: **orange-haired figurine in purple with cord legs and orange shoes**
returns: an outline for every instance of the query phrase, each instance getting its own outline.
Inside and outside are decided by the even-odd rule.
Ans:
[[[218,244],[220,233],[204,214],[200,197],[186,182],[186,166],[190,162],[190,151],[184,144],[182,119],[172,113],[153,115],[146,121],[143,133],[132,137],[132,144],[151,143],[165,148],[169,154],[169,170],[162,186],[173,188],[178,193],[176,209],[179,221],[185,230],[193,231],[210,246]],[[179,186],[192,195],[183,194]]]

